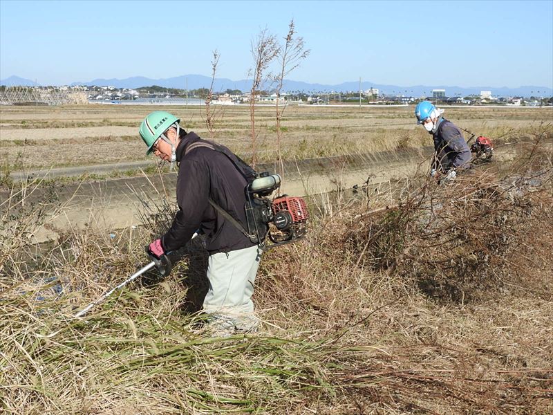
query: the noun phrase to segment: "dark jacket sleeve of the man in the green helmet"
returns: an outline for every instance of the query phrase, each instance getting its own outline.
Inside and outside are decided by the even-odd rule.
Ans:
[[[178,212],[162,237],[166,252],[178,250],[191,239],[202,223],[209,205],[209,169],[205,163],[183,160],[177,180]]]

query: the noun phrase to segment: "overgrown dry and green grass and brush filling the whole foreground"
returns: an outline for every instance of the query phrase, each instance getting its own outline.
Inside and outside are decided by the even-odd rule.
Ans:
[[[48,198],[27,205],[34,184],[22,185],[0,205],[0,407],[550,413],[551,160],[538,142],[502,176],[418,177],[398,183],[388,208],[367,187],[314,211],[305,240],[261,263],[261,332],[231,338],[203,335],[185,311],[205,287],[197,244],[165,280],[151,273],[73,318],[144,265],[171,213],[149,204],[158,216],[131,237],[58,230],[38,250],[27,241]]]

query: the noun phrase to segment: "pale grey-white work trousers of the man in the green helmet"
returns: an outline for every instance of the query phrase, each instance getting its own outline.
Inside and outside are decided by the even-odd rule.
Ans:
[[[260,259],[257,246],[209,255],[209,291],[203,308],[221,328],[256,330],[259,320],[254,315],[252,294]]]

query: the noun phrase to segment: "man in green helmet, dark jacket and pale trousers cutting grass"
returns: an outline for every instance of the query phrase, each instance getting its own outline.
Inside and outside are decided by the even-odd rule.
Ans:
[[[252,294],[261,250],[233,223],[247,226],[244,189],[254,172],[227,147],[187,133],[179,121],[171,113],[154,111],[140,125],[146,154],[178,163],[178,212],[171,228],[149,245],[149,253],[159,258],[178,250],[199,229],[207,236],[209,252],[209,290],[203,302],[209,327],[216,335],[256,331]]]

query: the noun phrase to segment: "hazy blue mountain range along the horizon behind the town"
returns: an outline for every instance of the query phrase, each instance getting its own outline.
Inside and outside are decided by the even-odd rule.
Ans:
[[[212,78],[204,75],[182,75],[177,77],[170,77],[165,79],[154,80],[147,77],[137,76],[129,77],[124,80],[119,79],[97,79],[88,82],[73,82],[74,85],[86,85],[86,86],[115,86],[116,88],[139,88],[140,86],[153,86],[158,85],[164,88],[178,88],[178,89],[198,89],[209,88],[212,82]],[[35,82],[26,80],[21,77],[11,76],[5,80],[0,80],[0,85],[6,86],[34,86]],[[233,81],[227,78],[216,78],[214,82],[214,91],[225,91],[227,89],[239,89],[241,91],[250,91],[252,87],[251,80],[239,80]],[[480,91],[491,91],[494,96],[552,96],[553,89],[547,86],[518,86],[517,88],[508,88],[502,86],[500,88],[494,88],[492,86],[450,86],[450,85],[414,85],[414,86],[398,86],[398,85],[386,85],[375,84],[373,82],[364,81],[361,84],[361,89],[366,91],[367,89],[375,88],[379,90],[379,93],[386,95],[405,95],[420,97],[423,95],[431,95],[433,89],[445,89],[445,95],[471,95],[480,94]],[[343,82],[337,85],[327,84],[311,84],[309,82],[300,82],[293,80],[285,80],[284,91],[303,91],[305,93],[310,92],[346,92],[346,91],[359,91],[359,82]]]

